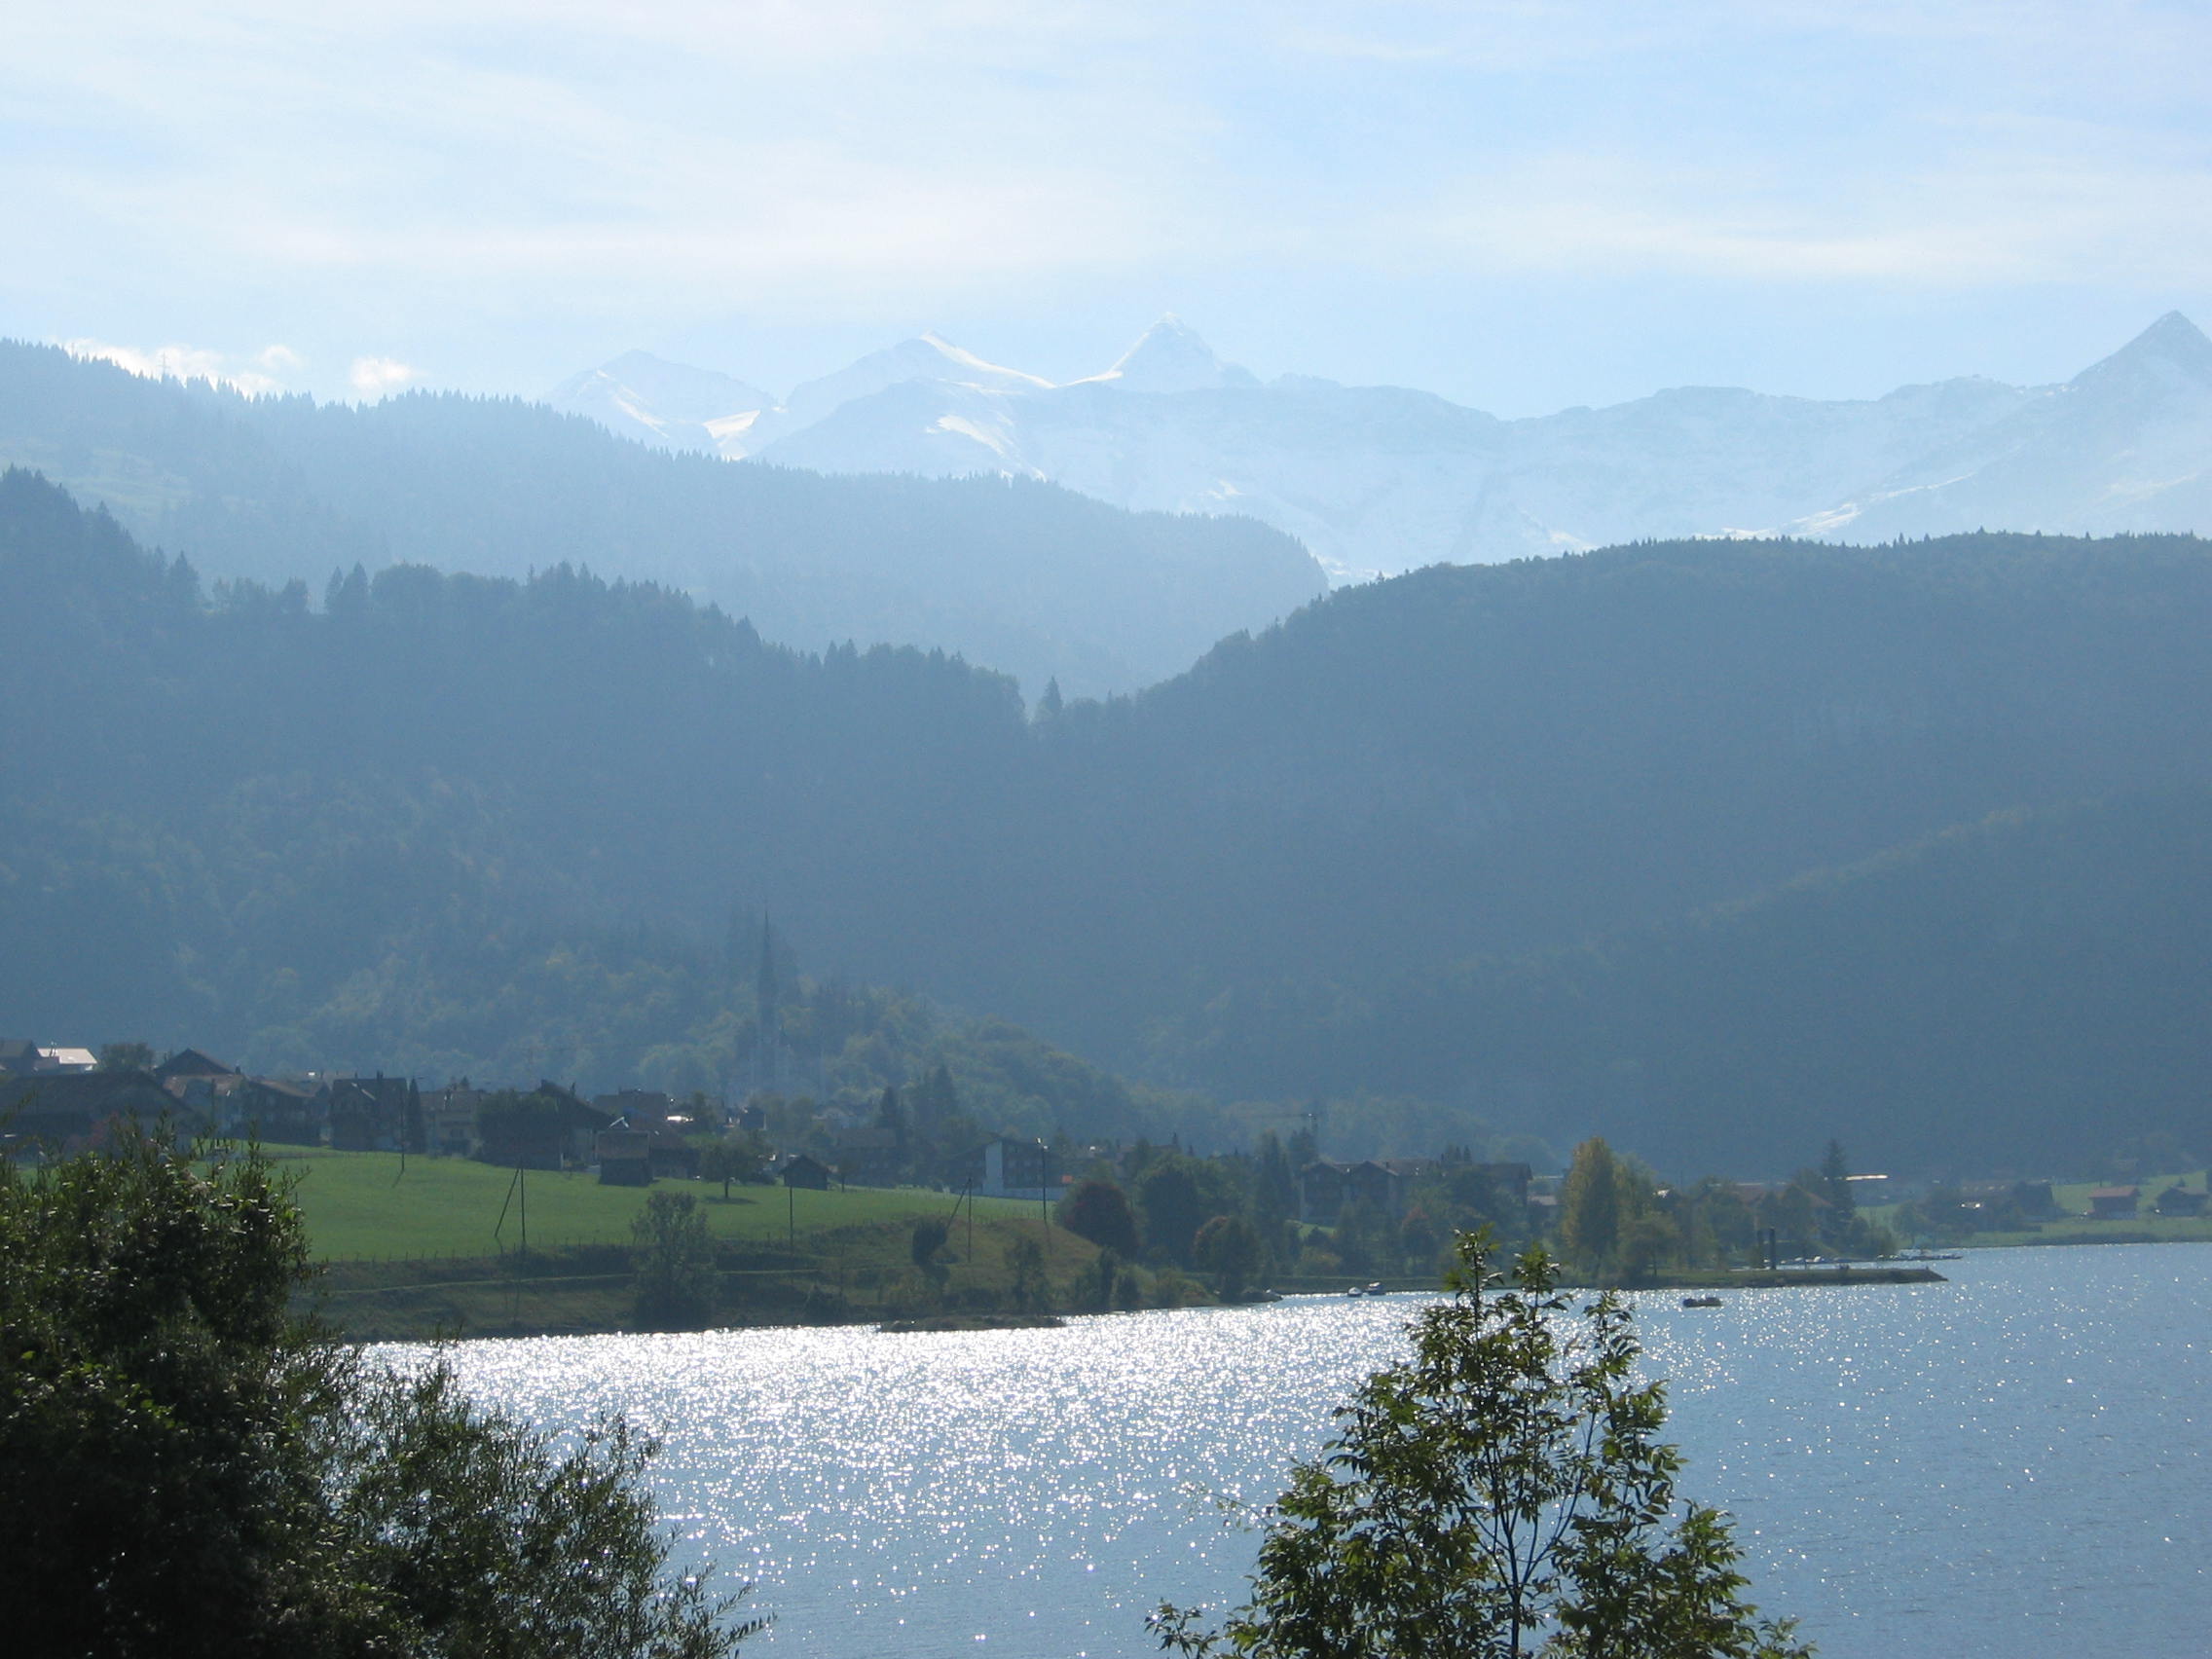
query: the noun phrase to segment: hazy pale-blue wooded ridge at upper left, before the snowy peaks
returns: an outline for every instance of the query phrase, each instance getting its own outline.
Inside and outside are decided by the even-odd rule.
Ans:
[[[571,562],[681,586],[772,639],[942,646],[1033,690],[1161,679],[1323,586],[1250,520],[1126,515],[1029,480],[723,467],[520,403],[248,400],[51,347],[0,345],[0,460],[210,575]]]

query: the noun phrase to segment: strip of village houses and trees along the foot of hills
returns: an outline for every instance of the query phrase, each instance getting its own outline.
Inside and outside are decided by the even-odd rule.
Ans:
[[[119,1119],[166,1117],[179,1139],[453,1157],[509,1170],[568,1170],[628,1188],[657,1181],[708,1181],[726,1192],[732,1183],[816,1192],[920,1188],[1053,1210],[1084,1183],[1108,1183],[1126,1188],[1135,1214],[1148,1223],[1139,1228],[1141,1243],[1155,1261],[1192,1263],[1192,1232],[1225,1212],[1254,1223],[1263,1239],[1256,1254],[1285,1279],[1338,1270],[1420,1274],[1455,1225],[1486,1223],[1506,1239],[1557,1239],[1575,1186],[1571,1170],[1482,1161],[1464,1148],[1420,1159],[1321,1157],[1303,1130],[1283,1141],[1263,1137],[1254,1152],[1212,1157],[1179,1144],[993,1133],[962,1110],[942,1064],[874,1102],[816,1102],[785,1086],[772,1066],[734,1104],[646,1088],[586,1095],[553,1079],[524,1088],[467,1077],[422,1086],[396,1073],[263,1077],[199,1048],[155,1055],[146,1044],[95,1051],[0,1040],[0,1155],[66,1155],[97,1144]],[[1756,1259],[1767,1252],[1767,1234],[1798,1256],[1871,1256],[2075,1221],[2199,1221],[2208,1210],[2201,1177],[1905,1183],[1838,1164],[1801,1170],[1790,1181],[1708,1177],[1688,1186],[1657,1181],[1632,1161],[1624,1170],[1608,1181],[1641,1188],[1626,1206],[1641,1217],[1624,1217],[1641,1228],[1615,1228],[1628,1243],[1615,1241],[1608,1254],[1628,1276],[1666,1261],[1721,1265],[1732,1250]],[[1869,1230],[1865,1217],[1885,1221],[1889,1232]],[[1564,1234],[1577,1225],[1586,1223],[1568,1221]],[[1126,1250],[1139,1254],[1139,1241],[1126,1241]]]

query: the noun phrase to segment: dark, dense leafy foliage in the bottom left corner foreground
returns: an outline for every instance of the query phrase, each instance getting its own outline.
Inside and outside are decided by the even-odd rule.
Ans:
[[[619,1420],[555,1451],[292,1312],[259,1152],[0,1161],[0,1604],[38,1655],[714,1659]]]

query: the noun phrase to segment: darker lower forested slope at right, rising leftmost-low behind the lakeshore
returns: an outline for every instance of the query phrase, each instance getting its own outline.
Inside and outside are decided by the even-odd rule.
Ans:
[[[2212,1150],[2208,867],[2203,790],[1995,814],[1584,949],[1252,987],[1155,1031],[1155,1064],[1458,1099],[1677,1172],[1781,1172],[1827,1137],[1953,1175],[2088,1170],[2159,1130]]]

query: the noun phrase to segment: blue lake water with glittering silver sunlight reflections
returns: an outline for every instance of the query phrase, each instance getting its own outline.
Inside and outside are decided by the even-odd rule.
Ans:
[[[2212,1245],[1991,1250],[1947,1285],[1639,1301],[1683,1491],[1827,1659],[2212,1652]],[[1418,1296],[1053,1332],[462,1343],[549,1429],[659,1431],[681,1551],[752,1579],[761,1659],[1146,1655],[1237,1599],[1263,1502],[1405,1349]],[[405,1352],[405,1349],[403,1349]]]

